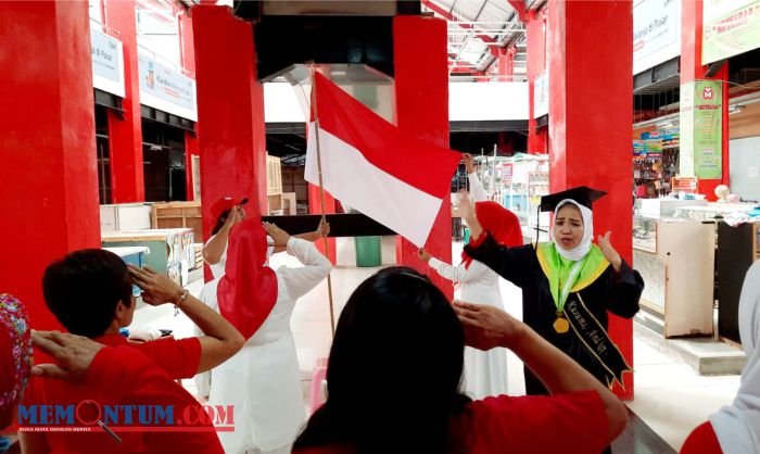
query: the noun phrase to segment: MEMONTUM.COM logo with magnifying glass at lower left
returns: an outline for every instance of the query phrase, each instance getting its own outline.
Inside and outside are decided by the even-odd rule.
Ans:
[[[18,405],[18,430],[25,432],[233,432],[235,405]]]

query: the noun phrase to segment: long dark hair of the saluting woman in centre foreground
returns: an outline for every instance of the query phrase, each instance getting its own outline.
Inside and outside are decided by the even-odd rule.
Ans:
[[[461,325],[430,279],[407,267],[378,272],[343,308],[330,350],[327,402],[294,449],[464,452],[457,434],[448,433],[451,416],[469,402],[459,392],[464,351]]]

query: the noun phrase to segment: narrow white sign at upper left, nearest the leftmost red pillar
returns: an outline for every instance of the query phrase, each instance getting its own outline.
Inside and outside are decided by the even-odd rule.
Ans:
[[[92,86],[124,98],[124,48],[122,41],[90,28]]]

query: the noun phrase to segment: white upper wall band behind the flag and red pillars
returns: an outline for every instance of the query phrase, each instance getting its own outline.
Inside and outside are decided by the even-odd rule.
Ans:
[[[356,87],[344,89],[352,93]],[[391,121],[392,86],[377,85],[375,90],[377,105],[373,110]],[[308,86],[303,86],[302,89],[301,86],[292,87],[284,83],[264,84],[265,121],[267,123],[305,122],[308,114],[305,100],[308,99]],[[451,121],[528,119],[528,84],[452,83],[448,85],[448,117]]]

